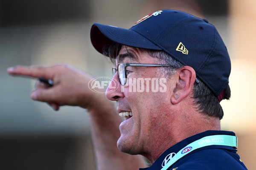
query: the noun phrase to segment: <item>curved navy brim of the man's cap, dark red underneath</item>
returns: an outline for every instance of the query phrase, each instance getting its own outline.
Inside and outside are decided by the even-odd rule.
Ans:
[[[100,53],[103,52],[105,45],[113,42],[136,48],[162,50],[153,42],[131,29],[107,26],[99,23],[93,24],[90,31],[90,38],[94,48]]]

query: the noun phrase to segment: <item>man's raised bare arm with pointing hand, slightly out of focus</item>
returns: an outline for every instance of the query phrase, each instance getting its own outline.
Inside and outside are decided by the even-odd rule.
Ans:
[[[54,84],[52,87],[40,82],[36,83],[36,89],[31,93],[33,100],[47,102],[54,110],[58,110],[62,105],[80,106],[88,110],[98,170],[136,170],[145,167],[141,156],[131,156],[117,149],[121,119],[115,106],[105,94],[95,93],[88,88],[88,82],[93,77],[68,65],[17,66],[7,71],[11,75],[52,80]]]

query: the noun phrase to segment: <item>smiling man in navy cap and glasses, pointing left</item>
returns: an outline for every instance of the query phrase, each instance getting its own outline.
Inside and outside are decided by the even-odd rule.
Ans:
[[[146,167],[133,155],[151,162],[147,170],[247,169],[236,154],[235,133],[221,131],[219,102],[230,98],[231,65],[224,42],[207,20],[157,11],[128,30],[93,24],[91,41],[116,65],[106,97],[116,101],[118,113],[102,94],[84,88],[91,78],[74,68],[8,71],[51,79],[53,87],[38,83],[31,97],[55,110],[60,105],[88,109],[99,169]],[[121,124],[118,114],[125,117]]]

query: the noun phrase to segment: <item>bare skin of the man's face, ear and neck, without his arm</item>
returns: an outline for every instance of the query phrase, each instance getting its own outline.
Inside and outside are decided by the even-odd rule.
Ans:
[[[128,53],[133,58],[129,57]],[[116,58],[116,67],[119,62],[159,64],[146,51],[132,47],[121,48]],[[152,79],[158,75],[156,67],[127,67],[127,70],[128,79]],[[116,74],[113,79],[118,81],[118,75]],[[116,91],[107,93],[108,99],[116,101],[119,113],[123,111],[133,113],[131,118],[126,119],[119,126],[121,132],[117,142],[119,150],[133,155],[143,155],[154,163],[161,153],[177,142],[205,130],[219,129],[217,118],[206,124],[207,118],[198,113],[193,105],[194,82],[195,71],[185,66],[167,80],[168,91],[164,93],[129,92],[129,86],[126,86],[123,92],[119,86],[116,87]]]

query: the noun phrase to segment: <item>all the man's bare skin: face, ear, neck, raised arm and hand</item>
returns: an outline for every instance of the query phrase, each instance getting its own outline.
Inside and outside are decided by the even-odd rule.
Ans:
[[[127,52],[137,59],[129,58]],[[116,65],[119,62],[158,64],[145,50],[132,47],[122,47]],[[154,78],[159,75],[156,67],[127,69],[130,71],[128,78]],[[80,106],[88,110],[99,170],[146,167],[142,157],[137,154],[154,163],[177,142],[206,130],[220,130],[218,118],[204,116],[194,105],[192,94],[195,71],[189,66],[180,68],[169,77],[166,92],[129,92],[129,87],[121,91],[119,84],[114,92],[108,93],[111,89],[107,89],[106,97],[110,100],[104,94],[90,91],[87,84],[92,77],[67,65],[46,68],[16,66],[9,68],[8,73],[52,79],[52,88],[37,83],[31,98],[49,103],[54,110],[62,105]],[[119,82],[117,74],[113,79]],[[111,85],[115,86],[113,80]],[[111,100],[116,101],[117,108]],[[122,111],[132,111],[133,116],[122,122],[118,116]]]

